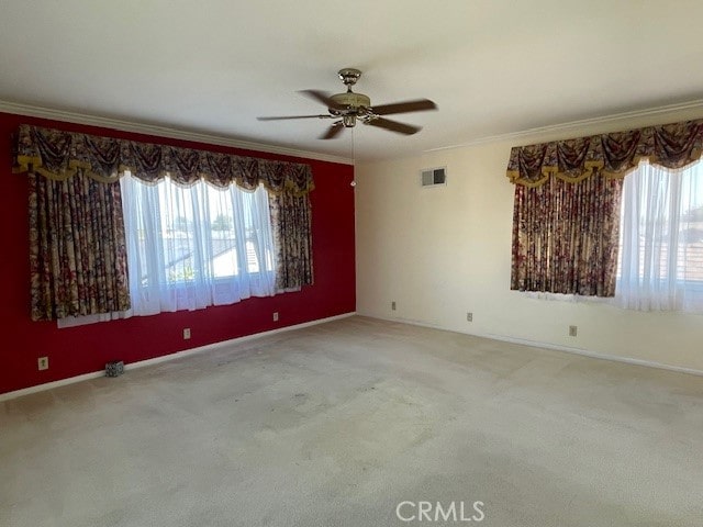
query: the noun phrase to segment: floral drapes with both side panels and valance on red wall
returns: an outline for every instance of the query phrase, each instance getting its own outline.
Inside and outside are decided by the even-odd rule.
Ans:
[[[32,318],[130,306],[120,186],[124,172],[156,184],[200,180],[254,191],[264,184],[278,250],[280,290],[311,284],[310,165],[21,125],[13,172],[30,172]]]

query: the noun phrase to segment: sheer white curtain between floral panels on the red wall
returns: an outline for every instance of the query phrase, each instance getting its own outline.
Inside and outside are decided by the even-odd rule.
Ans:
[[[263,187],[180,188],[121,179],[134,315],[198,310],[275,293],[276,265]]]

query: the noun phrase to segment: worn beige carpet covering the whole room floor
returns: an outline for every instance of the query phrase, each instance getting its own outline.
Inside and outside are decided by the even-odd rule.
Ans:
[[[703,378],[362,317],[0,424],[8,527],[703,525]]]

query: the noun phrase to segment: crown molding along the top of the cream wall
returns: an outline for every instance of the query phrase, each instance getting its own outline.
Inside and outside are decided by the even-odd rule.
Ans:
[[[431,149],[424,150],[424,153],[449,150],[453,148],[464,148],[468,146],[478,146],[478,145],[484,145],[488,143],[499,143],[504,141],[527,139],[527,138],[534,138],[535,136],[539,136],[539,135],[558,134],[561,132],[569,132],[572,130],[585,128],[589,126],[614,125],[627,120],[647,119],[647,117],[654,117],[654,116],[663,115],[663,114],[672,114],[676,112],[695,112],[695,111],[699,111],[701,115],[703,115],[703,99],[696,99],[693,101],[682,102],[677,104],[655,106],[647,110],[635,110],[631,112],[615,113],[611,115],[604,115],[601,117],[569,121],[560,124],[539,126],[536,128],[527,128],[520,132],[510,132],[507,134],[490,135],[486,137],[479,137],[477,139],[469,141],[467,143],[461,143],[458,145],[431,148]]]

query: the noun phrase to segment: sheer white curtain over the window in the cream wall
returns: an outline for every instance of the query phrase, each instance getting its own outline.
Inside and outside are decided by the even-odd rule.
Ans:
[[[616,303],[703,313],[703,166],[641,162],[625,178]]]

